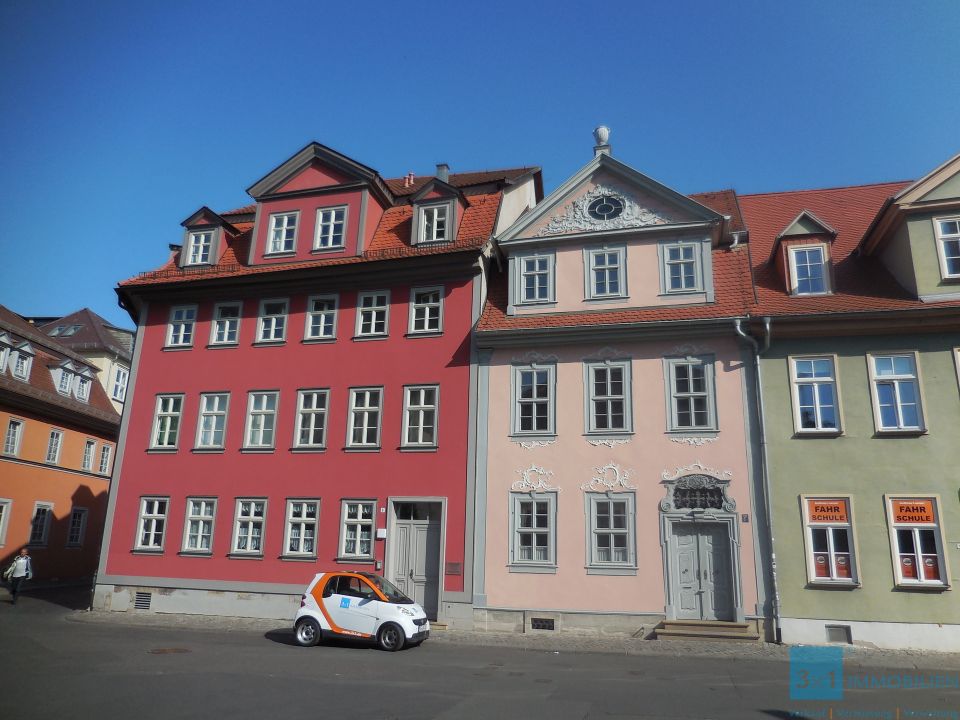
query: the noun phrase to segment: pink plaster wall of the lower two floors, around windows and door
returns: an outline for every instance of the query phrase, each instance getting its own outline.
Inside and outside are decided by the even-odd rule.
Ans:
[[[743,383],[746,367],[733,338],[698,339],[693,348],[682,341],[631,341],[606,348],[607,356],[630,358],[633,377],[634,434],[625,444],[593,446],[584,434],[583,361],[603,356],[603,345],[565,346],[556,352],[557,398],[554,442],[527,449],[512,438],[511,372],[514,362],[528,362],[525,348],[494,352],[490,367],[489,441],[487,455],[486,596],[490,608],[535,608],[595,612],[662,613],[664,598],[659,502],[666,490],[661,474],[701,462],[731,471],[729,492],[738,513],[752,513],[748,480]],[[665,432],[666,400],[663,358],[690,352],[714,353],[719,433],[701,446],[674,442]],[[710,433],[707,433],[710,435]],[[689,440],[689,438],[688,438]],[[598,468],[616,463],[629,470],[636,487],[635,575],[588,575],[586,570],[585,491],[581,486],[597,476]],[[510,494],[520,472],[531,465],[552,471],[557,494],[557,569],[555,574],[510,572]],[[535,476],[534,476],[535,479]],[[751,520],[754,518],[751,515]],[[743,606],[752,612],[757,602],[752,529],[741,525],[740,566]]]

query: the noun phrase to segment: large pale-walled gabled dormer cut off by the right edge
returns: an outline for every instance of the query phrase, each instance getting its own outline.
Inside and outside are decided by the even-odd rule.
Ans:
[[[859,250],[923,302],[960,300],[960,154],[891,197]]]

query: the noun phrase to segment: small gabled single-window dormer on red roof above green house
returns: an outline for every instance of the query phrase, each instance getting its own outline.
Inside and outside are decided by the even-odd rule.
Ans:
[[[830,249],[836,237],[837,231],[809,210],[802,210],[777,235],[770,262],[788,293],[808,297],[833,292]]]

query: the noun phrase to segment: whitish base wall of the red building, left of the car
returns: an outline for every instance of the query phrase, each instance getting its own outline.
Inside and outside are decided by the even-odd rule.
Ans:
[[[149,607],[135,607],[137,593]],[[144,604],[146,604],[144,602]],[[132,585],[97,585],[93,596],[95,610],[113,612],[154,612],[184,615],[223,615],[265,618],[293,622],[300,608],[300,595],[245,593],[221,590],[184,590]]]

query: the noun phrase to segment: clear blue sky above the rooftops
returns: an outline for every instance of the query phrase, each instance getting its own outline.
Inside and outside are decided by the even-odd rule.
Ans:
[[[0,303],[90,307],[311,140],[385,177],[614,154],[691,193],[960,151],[960,3],[0,2]]]

